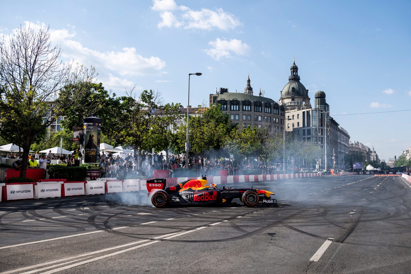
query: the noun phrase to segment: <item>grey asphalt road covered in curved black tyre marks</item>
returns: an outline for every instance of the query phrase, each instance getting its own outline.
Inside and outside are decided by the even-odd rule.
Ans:
[[[1,203],[0,274],[411,273],[401,177],[235,186],[251,184],[279,206],[158,209],[146,193]]]

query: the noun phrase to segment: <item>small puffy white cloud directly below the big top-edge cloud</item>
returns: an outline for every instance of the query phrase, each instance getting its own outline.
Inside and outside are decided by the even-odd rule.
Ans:
[[[212,48],[204,50],[205,53],[217,61],[222,57],[232,57],[231,53],[236,53],[236,55],[245,55],[250,48],[247,44],[242,43],[241,40],[237,39],[231,39],[228,41],[217,38],[215,41],[211,41],[208,44],[211,45]]]

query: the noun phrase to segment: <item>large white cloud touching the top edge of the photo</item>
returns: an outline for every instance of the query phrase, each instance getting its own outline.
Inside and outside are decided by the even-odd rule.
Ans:
[[[194,11],[189,7],[177,6],[173,0],[153,0],[151,9],[160,12],[162,21],[158,28],[180,28],[199,30],[230,30],[241,25],[240,20],[223,9],[201,9]],[[175,11],[173,14],[171,11]]]

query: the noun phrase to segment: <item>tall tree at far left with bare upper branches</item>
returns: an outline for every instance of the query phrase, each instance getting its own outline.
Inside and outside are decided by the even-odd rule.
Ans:
[[[93,68],[59,61],[61,53],[51,45],[48,28],[21,27],[0,43],[0,136],[21,146],[23,159],[36,139],[44,138],[46,128],[81,101],[79,83],[95,76]],[[78,88],[65,88],[70,85]],[[23,161],[21,177],[25,171]]]

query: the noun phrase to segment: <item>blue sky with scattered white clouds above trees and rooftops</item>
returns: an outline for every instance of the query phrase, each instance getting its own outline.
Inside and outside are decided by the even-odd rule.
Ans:
[[[94,66],[118,95],[162,92],[166,102],[208,103],[215,88],[278,101],[296,58],[301,83],[323,90],[351,141],[381,159],[411,146],[410,1],[5,1],[0,34],[49,25],[62,58]]]

